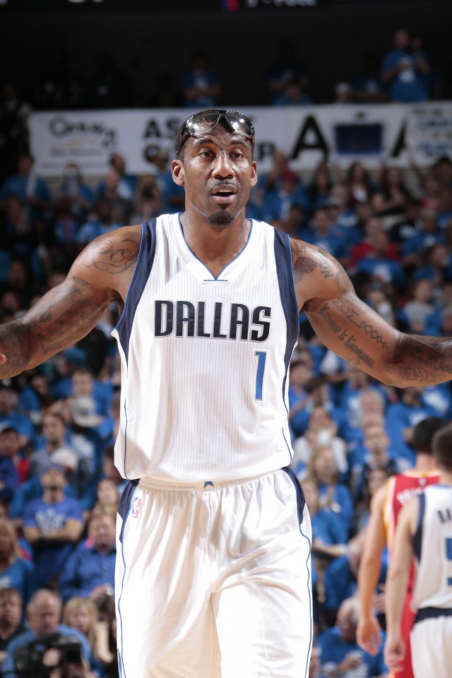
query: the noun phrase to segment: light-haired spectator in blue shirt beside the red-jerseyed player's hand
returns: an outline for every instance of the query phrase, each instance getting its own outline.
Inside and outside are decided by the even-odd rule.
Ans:
[[[316,645],[321,653],[321,670],[326,676],[354,678],[368,676],[383,678],[388,670],[383,660],[383,643],[379,653],[369,655],[356,642],[359,603],[357,598],[347,598],[338,609],[336,624],[323,631]]]

